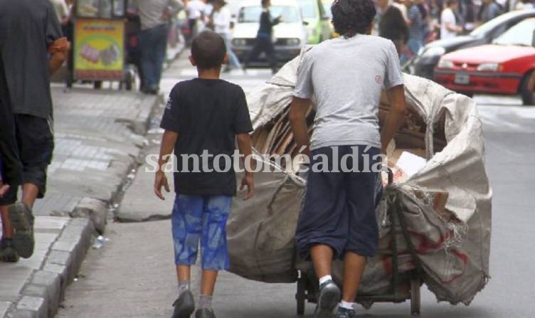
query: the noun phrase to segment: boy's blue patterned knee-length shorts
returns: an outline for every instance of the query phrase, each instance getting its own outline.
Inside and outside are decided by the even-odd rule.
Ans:
[[[176,195],[171,217],[176,265],[194,265],[201,240],[203,270],[228,269],[226,223],[231,205],[231,196]]]

